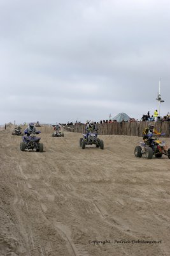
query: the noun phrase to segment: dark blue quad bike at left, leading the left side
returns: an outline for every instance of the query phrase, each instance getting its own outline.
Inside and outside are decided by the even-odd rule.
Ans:
[[[36,132],[39,134],[40,131]],[[22,137],[22,142],[20,143],[20,150],[25,151],[25,149],[36,149],[36,152],[43,152],[43,143],[39,143],[40,137],[36,137],[35,132],[29,134],[29,132],[25,132],[27,136]]]

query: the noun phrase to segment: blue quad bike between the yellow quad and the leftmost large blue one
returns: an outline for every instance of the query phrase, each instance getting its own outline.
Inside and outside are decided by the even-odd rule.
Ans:
[[[87,134],[82,134],[83,138],[80,138],[80,147],[82,149],[85,149],[86,145],[92,145],[95,144],[97,148],[104,148],[103,140],[100,140],[97,138],[97,132],[88,132]]]

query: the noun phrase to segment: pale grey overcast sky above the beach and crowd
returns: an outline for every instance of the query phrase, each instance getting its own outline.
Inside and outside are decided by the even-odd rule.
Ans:
[[[169,0],[0,0],[0,124],[170,112]]]

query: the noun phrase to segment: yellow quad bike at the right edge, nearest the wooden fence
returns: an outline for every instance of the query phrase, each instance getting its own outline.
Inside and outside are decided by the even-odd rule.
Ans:
[[[160,136],[163,135],[165,135],[165,133],[160,134]],[[148,134],[147,136],[150,140],[150,144],[140,142],[141,146],[136,146],[134,155],[141,157],[145,154],[147,159],[152,159],[153,156],[160,158],[162,155],[166,155],[170,159],[170,148],[167,148],[165,141],[160,141],[159,138],[155,137],[155,134]]]

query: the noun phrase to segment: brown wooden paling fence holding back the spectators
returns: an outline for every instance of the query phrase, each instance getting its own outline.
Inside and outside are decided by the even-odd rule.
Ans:
[[[100,135],[128,135],[128,136],[143,136],[143,129],[148,127],[148,122],[122,122],[111,124],[96,124],[98,134]],[[66,125],[64,129],[71,132],[85,133],[85,126],[81,124]],[[164,132],[164,137],[169,137],[170,134],[170,122],[155,122],[155,129],[159,132]]]

